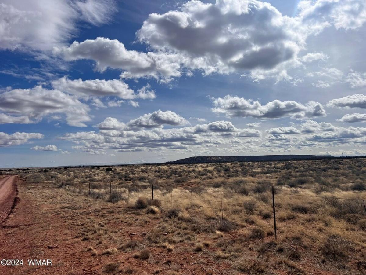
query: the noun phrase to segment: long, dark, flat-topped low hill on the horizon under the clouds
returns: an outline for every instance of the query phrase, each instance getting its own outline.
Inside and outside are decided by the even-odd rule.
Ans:
[[[203,156],[182,158],[168,161],[166,164],[196,164],[210,162],[242,162],[242,161],[281,161],[299,159],[334,158],[332,155],[242,155],[242,156]]]

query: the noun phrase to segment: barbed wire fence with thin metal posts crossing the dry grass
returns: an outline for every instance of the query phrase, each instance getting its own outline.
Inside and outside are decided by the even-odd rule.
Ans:
[[[66,185],[66,183],[68,185],[69,181],[64,182],[62,179],[61,180],[53,179],[53,183],[55,183],[57,186],[60,187],[60,186],[63,186],[63,184]],[[88,183],[89,184],[87,186],[87,195],[91,195],[93,192],[93,188],[91,186],[90,181]],[[78,187],[79,187],[78,184],[79,184],[78,180],[76,180],[75,181],[76,192],[78,192]],[[103,188],[103,189],[104,190],[109,189],[109,202],[114,202],[113,201],[113,194],[114,194],[113,191],[114,190],[112,188],[112,181],[109,182],[108,187],[109,188]],[[116,188],[116,189],[118,189],[118,188]],[[190,196],[182,197],[182,196],[173,195],[174,191],[185,192],[187,195],[190,195]],[[152,201],[158,200],[160,202],[164,202],[166,205],[170,205],[170,207],[165,207],[165,206],[163,207],[162,205],[160,205],[159,208],[161,208],[164,211],[172,210],[176,207],[176,205],[181,205],[187,211],[190,210],[191,217],[202,216],[202,217],[206,217],[206,218],[216,218],[216,219],[226,220],[226,221],[230,221],[232,223],[244,224],[244,225],[250,225],[250,223],[247,223],[245,221],[230,219],[230,215],[228,215],[227,213],[237,211],[237,209],[233,209],[231,206],[243,206],[243,209],[242,209],[243,213],[249,212],[249,213],[247,213],[248,215],[260,216],[260,217],[263,217],[263,215],[254,213],[255,206],[257,206],[258,208],[259,207],[260,208],[269,208],[272,212],[271,214],[273,215],[273,216],[271,216],[273,218],[273,223],[271,225],[269,225],[268,223],[266,225],[264,225],[264,224],[252,224],[252,225],[257,226],[257,227],[273,229],[276,240],[277,240],[277,230],[278,229],[280,229],[280,231],[283,231],[283,232],[290,232],[289,230],[286,230],[282,227],[280,227],[280,228],[277,227],[276,214],[278,214],[279,210],[282,210],[282,209],[294,211],[294,208],[284,207],[284,206],[281,206],[281,204],[277,205],[276,201],[279,198],[279,196],[294,196],[297,198],[302,198],[302,197],[303,198],[318,198],[318,199],[322,199],[325,202],[328,202],[331,205],[336,205],[336,203],[341,200],[351,201],[351,202],[355,202],[355,208],[357,209],[358,212],[360,212],[360,209],[363,208],[363,214],[366,215],[366,199],[365,198],[342,198],[342,197],[336,197],[336,196],[317,196],[317,195],[306,195],[306,194],[282,193],[282,192],[279,192],[278,190],[276,190],[275,186],[271,186],[269,191],[270,192],[247,192],[247,191],[243,192],[243,191],[233,191],[233,190],[205,190],[205,189],[197,189],[197,188],[161,189],[161,188],[154,188],[154,185],[152,184],[150,191],[148,188],[144,188],[144,189],[138,188],[138,187],[131,188],[131,189],[127,188],[127,194],[126,194],[127,198],[124,198],[124,199],[127,202],[127,206],[130,205],[131,198],[137,200],[137,199],[143,197],[146,199],[151,199]],[[206,193],[206,194],[216,193],[217,199],[202,199],[202,198],[194,197],[194,194],[202,194],[202,193]],[[248,198],[250,197],[250,195],[258,195],[258,194],[270,195],[272,203],[270,203],[270,204],[253,203],[253,202],[247,202],[247,201],[246,202],[245,201],[233,202],[233,201],[226,200],[225,197],[227,197],[227,196],[225,196],[225,194],[240,194],[240,195],[244,195],[245,197],[248,197]],[[253,198],[253,196],[252,196],[252,198]],[[190,201],[190,202],[187,203],[187,201]],[[207,204],[216,203],[216,205],[218,205],[218,206],[213,207],[210,205],[198,204],[196,202],[204,202]],[[200,211],[200,209],[202,209],[202,208],[215,210],[216,217],[214,217],[213,215],[207,215],[207,214],[202,213],[202,211]],[[300,211],[298,213],[302,213],[302,212]],[[303,214],[306,214],[306,213],[303,213]],[[287,219],[286,222],[300,223],[300,224],[305,223],[305,224],[326,226],[326,227],[330,227],[330,228],[337,228],[337,229],[343,229],[343,230],[350,229],[347,227],[340,227],[340,226],[335,226],[335,225],[330,225],[330,224],[315,223],[315,222],[305,220],[305,219],[297,220],[296,217]]]

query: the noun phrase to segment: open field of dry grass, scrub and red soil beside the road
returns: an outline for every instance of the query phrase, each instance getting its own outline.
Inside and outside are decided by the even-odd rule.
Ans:
[[[1,255],[53,265],[0,274],[366,274],[366,159],[107,170],[3,172]]]

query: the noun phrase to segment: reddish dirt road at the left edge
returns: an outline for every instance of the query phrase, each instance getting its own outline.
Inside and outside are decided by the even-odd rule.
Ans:
[[[0,179],[0,224],[10,214],[16,197],[16,176]]]

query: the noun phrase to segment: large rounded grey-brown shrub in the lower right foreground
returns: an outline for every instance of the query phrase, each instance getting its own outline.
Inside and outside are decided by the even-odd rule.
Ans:
[[[343,237],[339,235],[330,235],[320,249],[324,256],[332,259],[339,259],[347,258],[348,252],[352,251],[353,247],[351,242]]]

